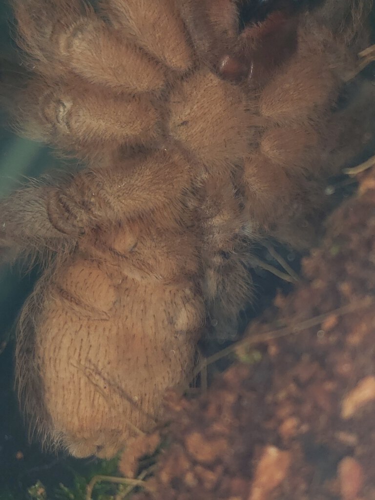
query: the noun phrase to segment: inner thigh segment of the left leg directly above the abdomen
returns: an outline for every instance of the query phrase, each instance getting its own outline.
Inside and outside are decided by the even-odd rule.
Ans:
[[[111,169],[86,168],[64,189],[63,196],[81,206],[75,217],[84,227],[142,217],[155,209],[165,209],[165,214],[178,219],[191,177],[191,167],[180,153],[161,150],[118,161]]]

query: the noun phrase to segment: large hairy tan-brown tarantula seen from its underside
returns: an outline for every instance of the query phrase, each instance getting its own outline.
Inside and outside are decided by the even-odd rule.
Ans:
[[[19,321],[19,395],[44,442],[111,456],[186,384],[207,318],[236,330],[251,242],[306,241],[369,2],[13,3],[15,126],[85,165],[0,203],[4,259],[54,253]]]

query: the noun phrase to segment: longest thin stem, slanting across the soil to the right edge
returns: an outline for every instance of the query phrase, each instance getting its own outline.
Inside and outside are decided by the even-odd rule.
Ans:
[[[237,348],[242,347],[242,346],[250,346],[250,345],[255,345],[260,342],[267,342],[269,340],[273,340],[275,338],[280,338],[280,337],[285,337],[287,335],[291,335],[293,333],[298,333],[302,330],[305,330],[307,328],[310,328],[311,326],[315,326],[316,324],[321,323],[324,319],[327,317],[331,316],[332,314],[336,314],[338,316],[342,316],[344,314],[347,314],[349,312],[353,312],[358,309],[362,309],[365,307],[368,307],[369,305],[373,304],[375,299],[373,297],[366,297],[358,302],[352,302],[347,305],[343,305],[341,307],[337,307],[336,309],[332,309],[329,312],[325,312],[324,314],[319,314],[318,316],[314,316],[310,319],[306,319],[305,321],[301,321],[299,323],[296,323],[294,326],[288,325],[288,326],[280,326],[280,328],[277,328],[275,330],[267,331],[265,333],[260,333],[259,335],[248,335],[250,326],[248,326],[245,330],[245,337],[242,338],[241,340],[238,340],[238,342],[235,342],[232,345],[229,345],[228,347],[225,347],[224,349],[220,350],[219,352],[216,352],[215,354],[212,354],[211,356],[208,356],[206,359],[203,359],[201,364],[196,368],[194,376],[199,373],[199,370],[204,367],[209,366],[210,364],[218,361],[222,357],[228,356],[229,354],[232,354]],[[246,336],[247,334],[247,336]]]

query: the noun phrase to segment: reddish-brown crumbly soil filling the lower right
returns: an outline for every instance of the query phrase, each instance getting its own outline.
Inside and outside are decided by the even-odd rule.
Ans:
[[[359,181],[305,281],[238,344],[242,362],[199,398],[168,396],[168,445],[134,498],[375,498],[375,169]]]

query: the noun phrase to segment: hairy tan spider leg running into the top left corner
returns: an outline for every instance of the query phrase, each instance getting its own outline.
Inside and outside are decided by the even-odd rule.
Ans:
[[[14,11],[18,44],[37,72],[57,77],[72,71],[130,92],[164,85],[163,68],[83,1],[16,0]]]

